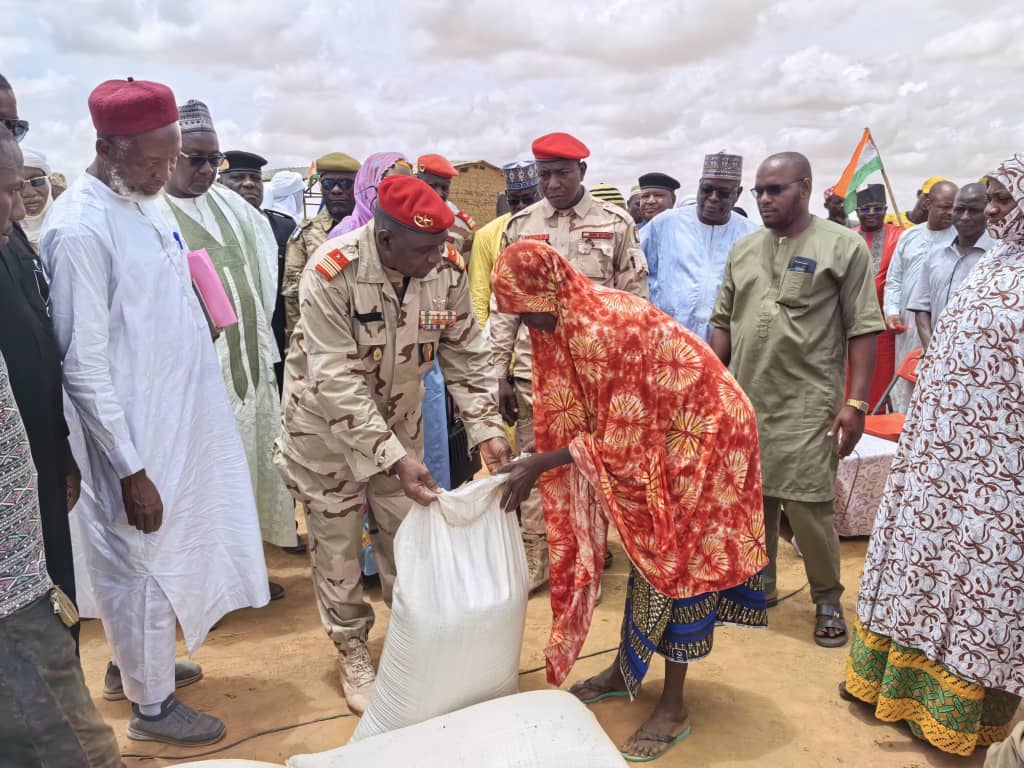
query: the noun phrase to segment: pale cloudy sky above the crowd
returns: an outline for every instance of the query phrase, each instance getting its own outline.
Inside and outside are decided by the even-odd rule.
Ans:
[[[591,182],[658,170],[693,191],[705,153],[805,153],[833,183],[864,126],[901,207],[1024,148],[1024,4],[1000,0],[0,0],[0,73],[26,145],[91,159],[102,80],[206,101],[223,150],[273,166],[340,150],[501,164],[563,130]],[[11,25],[13,19],[13,25]],[[820,198],[816,198],[817,202]],[[753,208],[753,200],[745,201]]]

